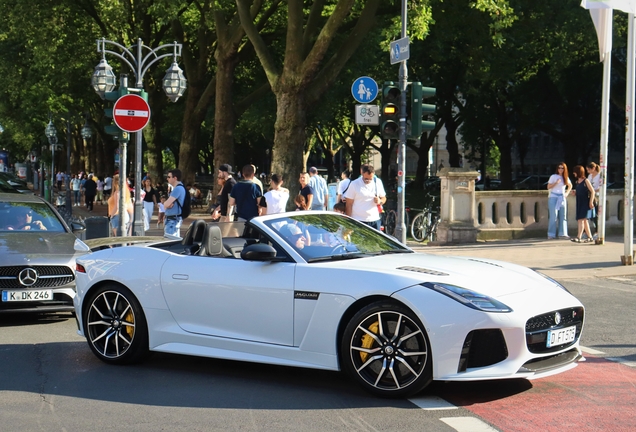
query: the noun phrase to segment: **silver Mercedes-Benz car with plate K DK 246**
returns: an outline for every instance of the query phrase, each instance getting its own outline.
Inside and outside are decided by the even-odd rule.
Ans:
[[[73,311],[75,259],[90,251],[35,195],[0,193],[0,314]]]

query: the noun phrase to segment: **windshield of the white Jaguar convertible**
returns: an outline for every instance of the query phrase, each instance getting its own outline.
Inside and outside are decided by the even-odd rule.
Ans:
[[[373,228],[337,213],[298,212],[265,224],[307,262],[412,252]]]

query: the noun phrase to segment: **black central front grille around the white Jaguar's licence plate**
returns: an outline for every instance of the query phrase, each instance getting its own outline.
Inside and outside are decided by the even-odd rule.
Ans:
[[[556,319],[557,313],[560,317],[560,322],[558,324]],[[528,350],[533,353],[550,353],[560,351],[563,348],[573,345],[579,337],[581,337],[581,330],[583,329],[583,315],[583,308],[576,307],[560,309],[558,311],[552,311],[530,318],[526,322],[526,345],[528,346]],[[572,342],[550,348],[547,347],[548,331],[559,330],[571,326],[576,326],[576,336]]]

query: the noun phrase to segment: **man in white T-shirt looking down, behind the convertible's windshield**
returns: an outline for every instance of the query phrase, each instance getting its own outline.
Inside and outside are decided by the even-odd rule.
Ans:
[[[382,180],[375,176],[373,165],[362,165],[362,175],[353,180],[344,194],[346,214],[380,231],[380,213],[386,203]]]

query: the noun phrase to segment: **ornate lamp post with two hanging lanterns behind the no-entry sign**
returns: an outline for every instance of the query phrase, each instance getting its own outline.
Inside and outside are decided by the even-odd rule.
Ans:
[[[107,44],[113,45],[119,50],[119,52],[107,49]],[[158,52],[164,49],[172,49],[172,53],[158,55]],[[136,51],[135,54],[133,54],[134,51]],[[144,45],[141,39],[137,39],[137,43],[135,45],[126,48],[117,42],[102,38],[97,40],[97,52],[102,53],[102,60],[95,68],[92,84],[93,88],[102,99],[104,99],[107,92],[113,91],[115,88],[115,75],[112,68],[106,62],[106,53],[118,57],[128,65],[135,75],[135,88],[129,88],[128,90],[139,92],[142,97],[145,95],[145,92],[143,92],[143,77],[148,68],[162,58],[173,56],[173,63],[166,71],[166,75],[162,80],[163,88],[166,95],[172,102],[176,102],[177,99],[179,99],[179,97],[181,97],[185,92],[186,79],[183,72],[177,65],[177,57],[181,56],[181,44],[178,44],[177,42],[161,45],[152,49]],[[141,174],[143,170],[142,131],[136,132],[135,135],[134,235],[141,236],[145,234],[144,224],[142,221],[143,202],[141,200]],[[123,178],[124,181],[126,179],[126,166],[123,163],[120,166],[120,179],[121,178]]]

